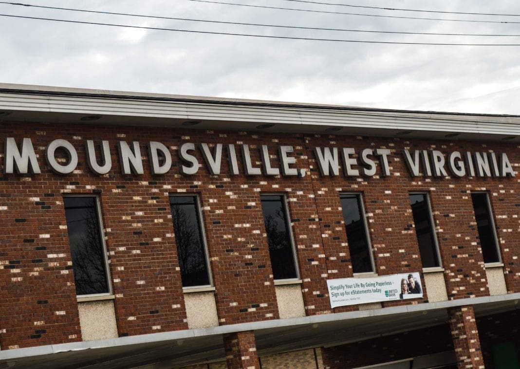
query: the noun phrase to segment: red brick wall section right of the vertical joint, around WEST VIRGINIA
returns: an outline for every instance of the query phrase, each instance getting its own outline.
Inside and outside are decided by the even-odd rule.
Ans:
[[[411,225],[413,218],[410,212],[409,192],[424,191],[430,194],[434,221],[438,228],[437,239],[440,247],[441,263],[445,268],[446,287],[449,299],[486,296],[486,286],[482,253],[478,245],[478,233],[474,223],[473,206],[470,191],[488,191],[493,213],[497,218],[497,232],[502,242],[502,259],[505,263],[506,283],[508,290],[517,292],[520,288],[518,261],[513,259],[514,250],[518,250],[518,231],[516,209],[518,204],[517,180],[515,178],[411,178],[405,166],[402,150],[440,150],[482,151],[494,150],[506,152],[511,163],[518,163],[518,149],[512,144],[491,144],[480,142],[440,141],[432,144],[426,140],[407,140],[399,138],[370,137],[312,137],[308,139],[308,147],[354,147],[356,152],[362,148],[387,148],[391,176],[388,178],[343,178],[340,176],[323,178],[315,175],[315,190],[322,191],[317,195],[318,208],[328,224],[342,220],[337,210],[340,202],[339,191],[361,192],[368,215],[370,237],[374,247],[376,272],[380,275],[421,271],[421,260],[417,238]],[[314,155],[309,152],[311,165],[317,167]],[[376,175],[381,174],[378,166]],[[518,205],[518,206],[516,206]],[[330,208],[330,209],[327,209]],[[328,269],[337,270],[329,278],[350,276],[351,269],[342,268],[341,261],[348,260],[346,235],[342,227],[329,228],[332,232],[323,239],[328,260]],[[504,231],[506,230],[506,231]],[[507,246],[509,251],[504,251]],[[340,256],[346,253],[346,256]],[[334,257],[335,260],[331,260]],[[424,280],[421,281],[424,286]],[[425,288],[427,299],[427,288]],[[417,300],[415,300],[417,301]],[[421,302],[421,301],[418,301]],[[386,302],[384,306],[407,304],[409,302]],[[352,308],[336,308],[344,311]]]

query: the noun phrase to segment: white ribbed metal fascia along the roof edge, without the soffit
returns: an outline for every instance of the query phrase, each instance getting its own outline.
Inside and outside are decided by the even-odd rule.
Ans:
[[[520,116],[479,116],[427,114],[424,112],[384,113],[362,111],[345,107],[348,111],[322,110],[320,106],[237,106],[218,105],[201,100],[190,102],[151,101],[146,99],[105,99],[102,96],[66,97],[63,95],[28,95],[2,93],[0,109],[19,112],[46,112],[64,114],[101,114],[107,116],[133,116],[143,118],[200,119],[209,121],[236,121],[249,124],[269,122],[283,125],[337,126],[346,128],[378,128],[383,130],[440,131],[497,136],[520,136]],[[309,109],[313,108],[313,109]],[[495,119],[492,119],[494,117]],[[110,124],[110,123],[108,123]]]

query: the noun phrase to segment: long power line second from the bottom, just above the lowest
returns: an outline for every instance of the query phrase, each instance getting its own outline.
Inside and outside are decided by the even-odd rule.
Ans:
[[[342,31],[342,32],[367,32],[367,33],[386,33],[386,34],[407,34],[407,35],[433,35],[433,36],[520,36],[520,34],[489,34],[489,33],[434,33],[434,32],[401,32],[401,31],[374,31],[374,30],[354,30],[345,28],[320,28],[320,27],[301,27],[295,25],[280,25],[280,24],[263,24],[263,23],[244,23],[244,22],[226,22],[218,20],[204,20],[204,19],[191,19],[191,18],[176,18],[176,17],[165,17],[165,16],[151,16],[143,14],[132,14],[132,13],[119,13],[113,11],[101,11],[101,10],[87,10],[87,9],[76,9],[76,8],[63,8],[55,6],[43,6],[43,5],[32,5],[22,3],[8,3],[1,2],[0,4],[19,5],[24,7],[33,8],[44,8],[54,10],[67,10],[67,11],[79,11],[93,14],[106,14],[106,15],[117,15],[117,16],[128,16],[138,18],[152,18],[152,19],[167,19],[167,20],[181,20],[189,22],[203,22],[203,23],[219,23],[219,24],[233,24],[233,25],[252,25],[255,27],[272,27],[272,28],[287,28],[287,29],[298,29],[298,30],[315,30],[315,31]]]

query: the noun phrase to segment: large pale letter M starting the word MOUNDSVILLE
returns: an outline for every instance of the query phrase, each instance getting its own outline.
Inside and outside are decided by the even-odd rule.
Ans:
[[[32,146],[30,138],[24,138],[22,141],[22,150],[18,150],[16,141],[12,137],[5,139],[5,151],[4,151],[4,172],[5,174],[12,174],[15,172],[18,174],[35,173],[40,174],[40,166],[36,161],[36,154]]]

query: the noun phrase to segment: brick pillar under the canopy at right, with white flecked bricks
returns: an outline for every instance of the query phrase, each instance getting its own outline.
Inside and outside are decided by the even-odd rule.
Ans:
[[[484,368],[473,307],[450,308],[448,317],[459,369]]]

